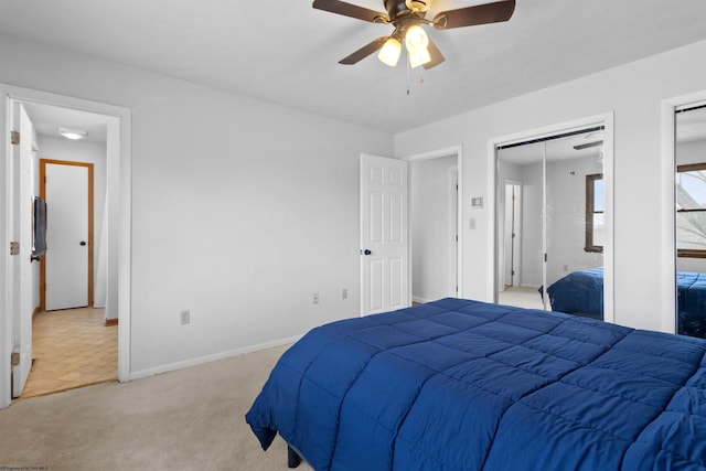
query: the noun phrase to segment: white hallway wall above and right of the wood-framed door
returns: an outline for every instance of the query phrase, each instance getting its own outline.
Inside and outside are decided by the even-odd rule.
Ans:
[[[90,141],[72,141],[61,137],[40,135],[39,159],[93,163],[94,171],[94,306],[106,303],[106,244],[104,211],[106,204],[106,144]]]

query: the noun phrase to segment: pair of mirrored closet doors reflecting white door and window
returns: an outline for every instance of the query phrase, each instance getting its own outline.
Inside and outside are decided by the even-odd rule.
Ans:
[[[498,147],[498,302],[603,319],[602,148],[602,126]]]

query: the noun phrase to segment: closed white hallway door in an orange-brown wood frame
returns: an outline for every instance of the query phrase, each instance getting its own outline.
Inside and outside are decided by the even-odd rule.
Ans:
[[[46,163],[46,310],[88,306],[88,168]]]

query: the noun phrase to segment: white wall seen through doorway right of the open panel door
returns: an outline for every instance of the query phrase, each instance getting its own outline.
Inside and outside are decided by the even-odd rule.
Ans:
[[[449,169],[456,164],[456,156],[410,163],[411,296],[417,302],[454,295],[449,292],[449,227],[457,215],[449,211]]]

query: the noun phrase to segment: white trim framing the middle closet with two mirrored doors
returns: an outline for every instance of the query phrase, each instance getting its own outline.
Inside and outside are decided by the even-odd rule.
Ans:
[[[496,180],[496,156],[498,146],[522,142],[532,139],[544,138],[561,132],[580,130],[593,125],[602,124],[603,131],[603,182],[605,182],[605,205],[606,214],[606,245],[603,246],[603,320],[616,322],[614,295],[613,295],[613,149],[614,149],[614,116],[613,111],[585,118],[565,121],[542,128],[531,129],[522,132],[514,132],[488,140],[488,207],[490,208],[488,224],[488,239],[493,247],[493,255],[488,257],[488,272],[492,274],[492,282],[488,287],[488,299],[498,302],[498,240],[495,239],[495,225],[498,224],[498,211],[495,208],[495,180]]]

